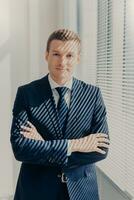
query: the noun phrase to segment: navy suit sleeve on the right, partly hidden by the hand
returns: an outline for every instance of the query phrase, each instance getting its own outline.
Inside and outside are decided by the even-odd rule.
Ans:
[[[108,125],[106,118],[106,107],[101,95],[99,88],[96,96],[96,102],[93,112],[92,124],[90,134],[92,133],[106,133],[108,134]],[[108,149],[101,148],[105,150],[106,154],[101,154],[98,152],[82,153],[82,152],[73,152],[69,156],[67,166],[69,168],[78,167],[85,164],[92,164],[98,161],[101,161],[107,157]]]

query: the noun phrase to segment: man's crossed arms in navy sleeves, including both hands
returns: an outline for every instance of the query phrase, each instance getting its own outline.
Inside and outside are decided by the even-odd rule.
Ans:
[[[98,100],[100,101],[100,98]],[[96,108],[96,119],[94,117],[91,134],[80,139],[69,140],[71,155],[67,156],[67,139],[45,140],[37,132],[36,127],[28,122],[22,92],[18,90],[11,129],[11,143],[16,159],[28,163],[69,168],[104,159],[107,155],[109,139],[107,128],[105,129],[105,113],[101,112],[102,116],[97,116],[99,109],[100,106]]]

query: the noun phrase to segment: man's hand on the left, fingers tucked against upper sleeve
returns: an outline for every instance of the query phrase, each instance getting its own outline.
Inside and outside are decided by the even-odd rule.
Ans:
[[[44,139],[38,133],[38,131],[35,128],[35,126],[32,123],[30,123],[29,121],[27,121],[27,123],[28,123],[28,125],[30,127],[21,126],[23,131],[21,131],[20,133],[23,134],[24,137],[26,137],[26,138],[33,139],[33,140],[42,140],[42,141],[44,141]]]

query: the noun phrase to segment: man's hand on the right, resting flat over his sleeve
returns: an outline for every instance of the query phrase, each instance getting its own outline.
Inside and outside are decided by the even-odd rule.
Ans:
[[[105,154],[106,152],[99,147],[109,148],[110,140],[107,137],[107,134],[95,133],[84,138],[70,140],[71,152],[99,152]]]

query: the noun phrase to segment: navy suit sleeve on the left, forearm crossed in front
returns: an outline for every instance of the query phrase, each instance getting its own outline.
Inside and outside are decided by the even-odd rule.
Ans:
[[[15,158],[33,164],[65,166],[68,160],[66,139],[37,141],[20,134],[21,125],[26,126],[29,119],[23,93],[23,88],[18,88],[13,108],[10,141]]]

